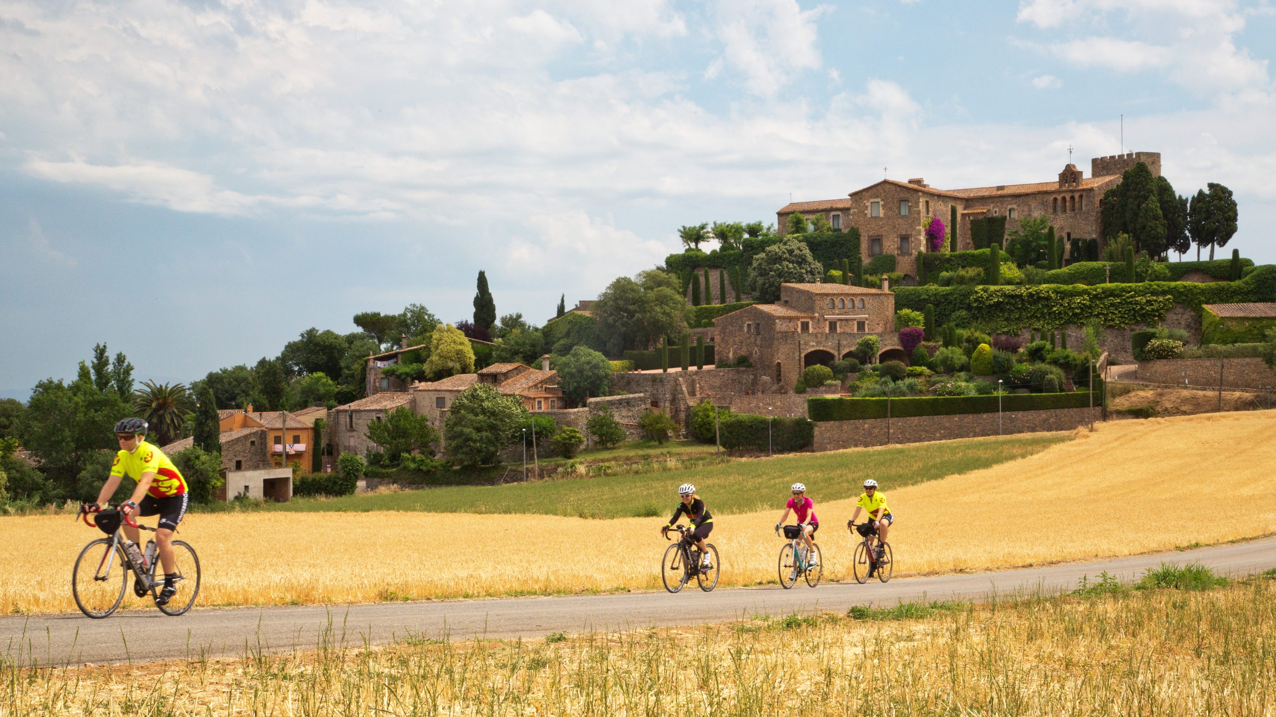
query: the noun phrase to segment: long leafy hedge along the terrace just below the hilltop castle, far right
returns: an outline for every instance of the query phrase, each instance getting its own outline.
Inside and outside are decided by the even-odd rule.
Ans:
[[[1099,319],[1105,327],[1155,324],[1175,304],[1201,313],[1203,304],[1276,301],[1276,265],[1254,269],[1239,282],[1143,282],[1100,286],[898,286],[894,307],[924,311],[935,305],[935,322],[948,323],[967,311],[993,332],[1030,327],[1083,325]]]

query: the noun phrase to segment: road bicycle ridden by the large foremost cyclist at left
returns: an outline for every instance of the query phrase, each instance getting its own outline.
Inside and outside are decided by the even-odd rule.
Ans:
[[[156,565],[160,564],[157,546],[153,540],[147,541],[145,554],[137,552],[138,558],[130,558],[129,547],[137,550],[137,545],[120,531],[121,524],[128,524],[143,531],[156,532],[149,526],[139,526],[129,519],[117,508],[108,508],[93,514],[87,506],[80,506],[77,515],[83,518],[84,524],[97,528],[108,537],[97,538],[80,550],[75,559],[75,568],[71,572],[71,593],[75,596],[75,605],[80,612],[89,617],[106,617],[120,607],[124,600],[124,591],[129,587],[129,573],[133,573],[133,593],[138,597],[151,597],[156,601],[156,607],[165,615],[181,615],[190,610],[199,595],[199,556],[195,549],[186,541],[172,541],[174,569],[177,575],[175,587],[177,592],[168,598],[166,605],[160,605],[160,592],[163,589],[165,578],[161,574],[156,579]]]

